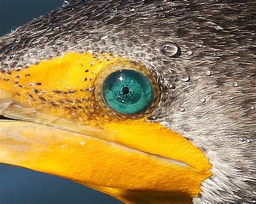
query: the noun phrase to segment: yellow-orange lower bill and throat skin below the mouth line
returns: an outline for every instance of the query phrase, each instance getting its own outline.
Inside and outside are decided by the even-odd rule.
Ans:
[[[178,173],[184,174],[184,180],[200,177],[200,173],[185,164],[50,126],[5,121],[1,122],[0,136],[2,163],[59,175],[126,202],[137,196],[138,201],[189,202],[191,195],[186,192],[190,187],[174,182],[179,180]],[[172,178],[173,174],[177,178]],[[193,186],[193,182],[188,185]],[[175,187],[166,189],[169,186]],[[139,191],[145,193],[145,198],[139,196]]]

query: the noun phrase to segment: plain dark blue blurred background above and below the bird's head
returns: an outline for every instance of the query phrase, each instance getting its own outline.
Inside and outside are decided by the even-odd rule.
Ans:
[[[62,0],[0,0],[0,36],[62,5]],[[75,182],[0,164],[0,203],[120,203]]]

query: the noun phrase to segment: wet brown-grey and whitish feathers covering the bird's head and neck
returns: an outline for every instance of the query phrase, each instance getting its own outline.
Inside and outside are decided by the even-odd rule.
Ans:
[[[0,38],[0,69],[68,52],[118,53],[158,75],[152,121],[213,165],[195,203],[255,202],[255,2],[74,1]],[[163,46],[178,45],[170,57]]]

